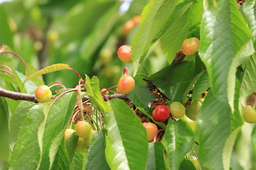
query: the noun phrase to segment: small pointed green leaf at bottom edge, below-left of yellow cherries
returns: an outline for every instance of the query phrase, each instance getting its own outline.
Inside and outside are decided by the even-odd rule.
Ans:
[[[58,153],[56,154],[52,169],[62,169],[62,170],[70,169],[70,161],[68,157],[68,152],[65,149],[64,140],[62,140],[58,148]]]

